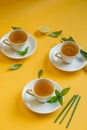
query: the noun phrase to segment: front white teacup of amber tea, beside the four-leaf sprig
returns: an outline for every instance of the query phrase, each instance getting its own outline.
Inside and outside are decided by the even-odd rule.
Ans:
[[[44,103],[54,93],[54,84],[49,79],[41,78],[36,80],[32,89],[28,89],[26,93],[34,96],[38,102]]]

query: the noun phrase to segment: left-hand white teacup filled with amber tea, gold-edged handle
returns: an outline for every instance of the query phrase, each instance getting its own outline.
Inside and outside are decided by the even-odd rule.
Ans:
[[[3,43],[10,46],[14,50],[19,50],[29,40],[28,34],[22,29],[16,29],[8,34],[7,39],[3,40]]]

